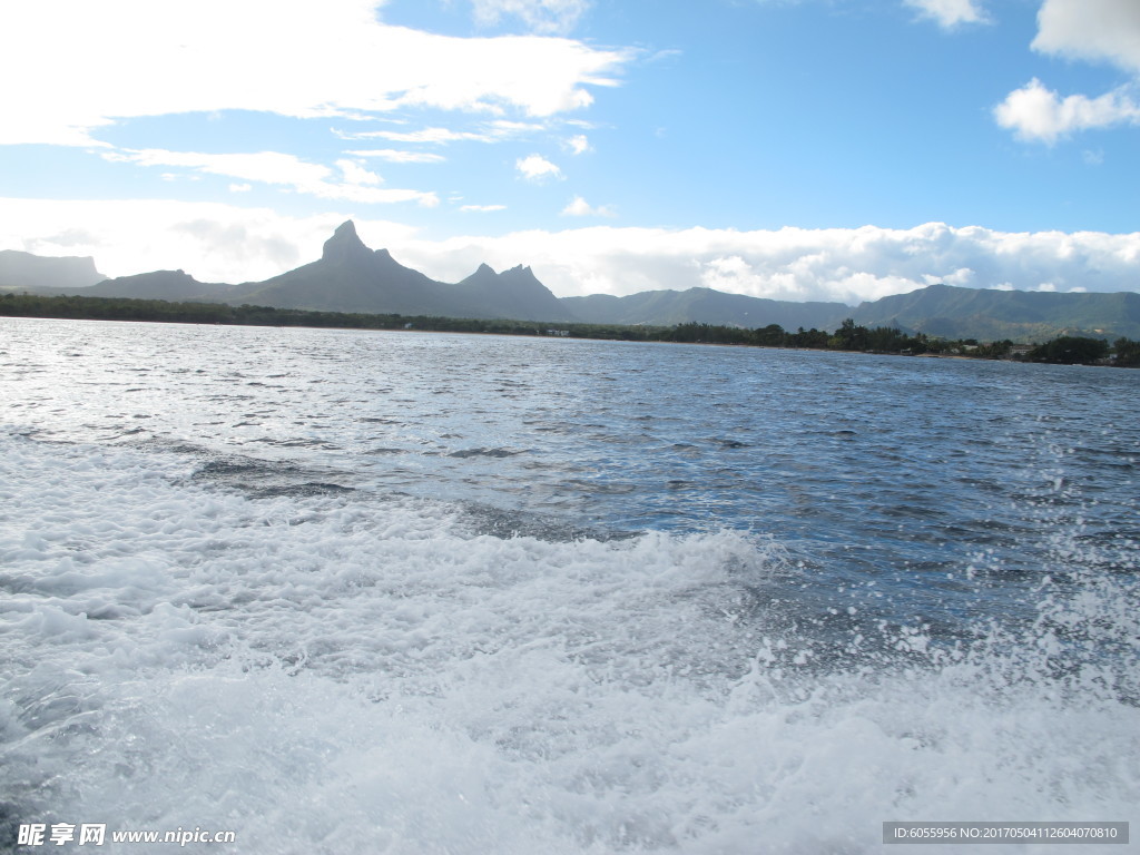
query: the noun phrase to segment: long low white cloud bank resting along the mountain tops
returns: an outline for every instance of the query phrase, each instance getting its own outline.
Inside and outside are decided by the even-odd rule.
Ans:
[[[555,294],[716,287],[787,300],[857,303],[931,282],[1072,292],[1138,291],[1140,233],[912,229],[650,229],[594,226],[429,241],[406,226],[341,210],[291,218],[181,202],[0,199],[0,249],[92,255],[112,276],[182,268],[204,282],[266,279],[320,256],[352,218],[364,242],[458,282],[480,263],[530,264]]]

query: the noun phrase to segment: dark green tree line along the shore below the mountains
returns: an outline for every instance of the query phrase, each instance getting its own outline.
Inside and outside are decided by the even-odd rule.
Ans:
[[[845,320],[834,332],[788,332],[779,324],[744,329],[714,324],[674,326],[622,326],[568,321],[442,318],[408,315],[275,309],[267,306],[169,302],[128,298],[42,296],[8,293],[0,296],[0,316],[72,320],[141,320],[168,324],[222,324],[235,326],[299,326],[344,329],[418,329],[447,333],[561,336],[644,342],[736,344],[758,348],[844,350],[904,356],[959,356],[977,359],[1016,359],[1068,365],[1140,367],[1140,342],[1117,339],[1059,336],[1032,345],[1010,340],[980,343],[974,339],[947,340],[925,333],[909,334],[893,327],[868,328]]]

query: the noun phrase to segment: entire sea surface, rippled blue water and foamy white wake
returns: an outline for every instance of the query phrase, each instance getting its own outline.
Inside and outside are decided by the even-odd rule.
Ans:
[[[1138,372],[0,319],[0,381],[8,838],[1140,820]]]

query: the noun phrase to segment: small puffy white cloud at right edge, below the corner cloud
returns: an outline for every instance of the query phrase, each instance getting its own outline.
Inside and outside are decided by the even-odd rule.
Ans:
[[[1140,124],[1140,105],[1124,89],[1089,98],[1061,98],[1033,79],[994,107],[994,119],[1020,139],[1056,142],[1074,131]]]

